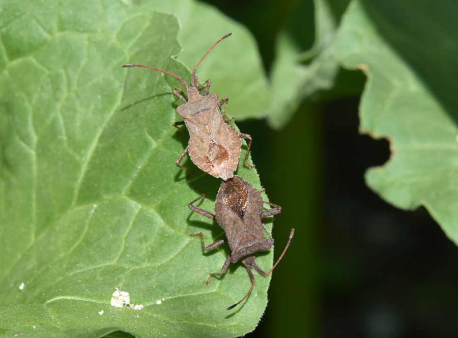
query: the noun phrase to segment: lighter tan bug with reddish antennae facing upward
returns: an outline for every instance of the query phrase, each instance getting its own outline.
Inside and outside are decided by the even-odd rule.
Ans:
[[[227,180],[234,176],[234,171],[240,158],[242,143],[240,138],[249,140],[247,151],[243,163],[248,167],[254,165],[247,163],[248,154],[251,147],[251,136],[237,132],[232,126],[228,125],[225,116],[227,109],[227,97],[223,97],[218,102],[218,94],[209,94],[211,81],[207,80],[201,85],[195,76],[197,66],[221,40],[231,36],[232,33],[226,34],[205,53],[201,61],[197,63],[192,71],[191,86],[180,76],[169,73],[165,70],[143,65],[124,65],[123,67],[144,67],[174,76],[183,83],[186,89],[185,93],[175,88],[173,93],[185,104],[177,107],[178,114],[183,117],[183,122],[176,122],[174,126],[185,124],[189,131],[189,143],[183,153],[178,157],[176,164],[191,173],[192,170],[180,165],[180,162],[189,153],[192,162],[210,175]],[[199,92],[205,87],[204,95]],[[221,115],[221,107],[225,104],[224,114]]]

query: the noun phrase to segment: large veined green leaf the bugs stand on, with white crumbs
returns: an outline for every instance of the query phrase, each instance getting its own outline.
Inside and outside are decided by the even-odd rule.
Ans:
[[[184,165],[195,171],[191,179],[175,166],[189,138],[171,126],[180,104],[171,91],[179,82],[121,67],[141,62],[190,78],[174,59],[181,49],[177,18],[153,5],[2,3],[0,332],[229,337],[253,330],[264,312],[270,277],[262,276],[246,303],[225,311],[250,287],[240,264],[205,287],[229,249],[203,254],[199,239],[189,236],[203,232],[210,244],[224,234],[187,206],[198,187],[208,193],[198,205],[213,211],[220,180],[189,158]],[[208,22],[221,18],[210,8],[204,14]],[[195,47],[197,60],[216,34]],[[229,48],[253,49],[244,36],[238,41],[234,34],[238,47]],[[233,54],[221,58],[235,68],[260,68],[255,58],[243,65]],[[240,164],[238,174],[261,188],[254,169]],[[256,261],[268,270],[272,258],[271,250]],[[145,308],[112,307],[117,287]]]

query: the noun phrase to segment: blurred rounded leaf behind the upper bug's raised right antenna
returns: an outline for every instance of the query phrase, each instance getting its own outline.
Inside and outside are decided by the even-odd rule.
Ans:
[[[183,45],[180,60],[191,69],[220,37],[233,33],[199,65],[197,76],[210,78],[212,91],[229,97],[227,113],[236,120],[268,114],[269,83],[255,39],[246,27],[196,1],[146,0],[139,5],[178,17],[182,27],[178,38]]]

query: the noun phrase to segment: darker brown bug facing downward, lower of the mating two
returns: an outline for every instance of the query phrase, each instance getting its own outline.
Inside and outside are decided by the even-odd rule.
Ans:
[[[261,196],[262,191],[264,190],[256,190],[250,183],[240,176],[235,175],[232,179],[221,183],[218,194],[216,195],[215,214],[193,205],[198,200],[203,199],[205,197],[205,193],[202,193],[201,196],[188,205],[189,209],[192,211],[210,219],[216,219],[219,226],[226,233],[225,239],[220,239],[207,246],[204,244],[204,235],[202,233],[190,234],[191,236],[201,236],[202,247],[205,251],[212,250],[223,244],[225,241],[227,241],[231,247],[231,255],[227,256],[227,259],[221,268],[221,272],[210,273],[207,278],[206,285],[208,286],[212,276],[223,275],[231,262],[236,263],[239,260],[242,260],[242,263],[245,265],[248,275],[250,276],[251,287],[248,293],[240,301],[226,308],[226,310],[230,310],[243,302],[253,290],[255,280],[251,269],[254,268],[261,275],[267,277],[277,266],[278,262],[280,262],[283,258],[283,255],[288,249],[294,235],[294,229],[291,229],[287,245],[281,253],[280,258],[274,264],[272,269],[269,270],[269,272],[264,272],[256,265],[256,257],[254,254],[256,252],[269,250],[274,242],[261,219],[276,215],[281,211],[279,206],[263,201]],[[264,210],[264,204],[268,204],[273,208]],[[264,230],[269,235],[269,239],[264,237]]]

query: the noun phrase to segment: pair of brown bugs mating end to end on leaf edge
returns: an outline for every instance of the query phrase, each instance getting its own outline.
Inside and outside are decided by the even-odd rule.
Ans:
[[[228,98],[223,97],[218,102],[218,94],[209,94],[211,81],[207,80],[199,85],[198,78],[195,76],[198,65],[201,64],[207,54],[221,40],[229,36],[231,36],[231,33],[219,39],[197,63],[192,71],[191,86],[189,86],[180,76],[162,69],[133,64],[123,66],[144,67],[174,76],[183,83],[186,89],[186,93],[179,88],[175,88],[173,91],[173,93],[184,102],[184,104],[177,107],[177,112],[183,117],[184,121],[175,122],[174,126],[177,127],[178,125],[185,124],[190,136],[188,146],[177,159],[176,165],[190,172],[192,175],[192,171],[189,168],[180,165],[181,161],[188,153],[192,162],[204,172],[216,178],[223,179],[216,196],[215,214],[194,206],[195,202],[205,198],[205,193],[202,193],[201,196],[192,201],[188,206],[192,211],[216,220],[219,226],[224,230],[226,238],[205,246],[204,235],[202,233],[190,235],[201,236],[202,247],[205,251],[212,250],[226,241],[231,247],[231,254],[224,262],[221,271],[219,273],[211,273],[207,278],[206,285],[208,286],[212,276],[223,275],[231,262],[236,263],[240,260],[242,260],[242,263],[245,265],[251,280],[251,287],[245,297],[228,307],[227,310],[243,302],[253,290],[255,279],[251,269],[254,268],[261,275],[268,276],[282,259],[294,234],[294,229],[292,229],[287,245],[281,253],[280,258],[269,272],[264,272],[256,265],[255,253],[269,250],[274,243],[262,219],[278,214],[281,208],[278,205],[263,201],[261,192],[264,190],[256,190],[243,178],[234,175],[241,155],[241,138],[249,140],[243,162],[248,167],[254,166],[247,163],[251,147],[251,136],[239,133],[231,125],[226,123],[231,120],[225,119]],[[201,95],[202,89],[204,89],[204,95]],[[221,107],[223,105],[225,105],[224,112],[221,114]],[[272,208],[264,210],[264,204],[268,204]],[[267,232],[269,238],[264,236],[264,230]]]

